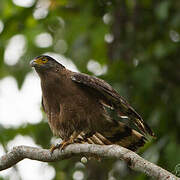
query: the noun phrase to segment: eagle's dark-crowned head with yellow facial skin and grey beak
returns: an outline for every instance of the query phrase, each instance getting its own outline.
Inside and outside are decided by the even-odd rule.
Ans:
[[[36,69],[36,71],[48,71],[52,69],[62,69],[65,68],[62,64],[57,62],[55,59],[53,59],[50,56],[47,55],[41,55],[35,57],[31,62],[30,65]]]

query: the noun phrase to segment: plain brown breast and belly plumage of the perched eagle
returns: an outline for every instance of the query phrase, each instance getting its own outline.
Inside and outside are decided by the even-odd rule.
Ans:
[[[69,79],[62,82],[55,77],[43,85],[43,100],[53,134],[65,139],[74,131],[99,128],[97,122],[104,116],[96,96]]]

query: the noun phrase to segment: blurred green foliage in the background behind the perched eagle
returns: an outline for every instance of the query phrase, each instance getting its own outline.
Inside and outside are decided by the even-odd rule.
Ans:
[[[55,45],[58,40],[64,40],[68,47],[64,55],[71,58],[81,72],[89,72],[86,66],[90,59],[107,64],[107,74],[102,77],[142,114],[157,135],[155,142],[145,146],[141,154],[173,172],[180,163],[179,0],[50,2],[48,15],[35,19],[36,3],[23,8],[11,0],[1,0],[0,20],[4,30],[0,34],[0,78],[11,75],[21,88],[31,71],[29,61],[47,51],[61,53]],[[106,13],[111,18],[107,24],[103,22]],[[43,32],[52,35],[52,46],[40,48],[35,44],[36,36]],[[113,35],[111,43],[104,40],[107,33]],[[26,51],[17,64],[10,66],[4,61],[4,52],[9,39],[17,34],[25,36]],[[31,136],[44,148],[50,146],[51,132],[43,120],[17,128],[0,124],[0,132],[3,147],[17,134]],[[50,163],[56,169],[55,179],[72,179],[77,161],[79,159]],[[115,172],[115,163],[115,160],[88,161],[82,169],[85,179],[108,179],[113,174],[110,172]],[[116,167],[121,175],[116,176],[116,172],[113,176],[149,179],[124,168],[123,171]],[[97,170],[98,174],[93,176]]]

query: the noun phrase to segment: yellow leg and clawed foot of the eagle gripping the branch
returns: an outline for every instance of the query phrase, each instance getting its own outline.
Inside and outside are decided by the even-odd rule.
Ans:
[[[51,154],[55,149],[60,149],[62,151],[67,145],[75,143],[75,139],[78,135],[79,133],[74,131],[68,140],[63,140],[60,144],[52,145],[50,149]]]

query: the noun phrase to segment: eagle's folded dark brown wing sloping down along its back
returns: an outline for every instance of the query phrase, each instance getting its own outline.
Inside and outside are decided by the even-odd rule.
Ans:
[[[83,73],[74,73],[71,79],[96,91],[105,105],[115,109],[120,116],[127,116],[144,134],[154,136],[154,133],[141,116],[104,80]]]

